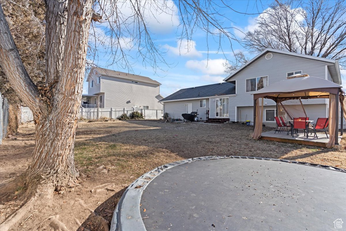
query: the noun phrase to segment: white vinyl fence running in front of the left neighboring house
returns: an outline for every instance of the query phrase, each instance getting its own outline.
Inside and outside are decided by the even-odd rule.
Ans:
[[[80,108],[79,118],[98,119],[110,118],[116,119],[122,114],[130,115],[132,112],[143,113],[144,119],[160,119],[163,116],[163,110],[142,109],[142,108]]]

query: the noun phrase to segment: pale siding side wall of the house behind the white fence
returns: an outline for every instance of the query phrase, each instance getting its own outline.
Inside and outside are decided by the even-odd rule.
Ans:
[[[163,105],[158,103],[156,98],[160,94],[160,86],[137,82],[132,83],[131,80],[102,75],[101,92],[105,92],[104,107],[149,106],[149,109],[162,109]]]

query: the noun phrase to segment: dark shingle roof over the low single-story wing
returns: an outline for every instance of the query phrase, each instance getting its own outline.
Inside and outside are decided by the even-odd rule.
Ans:
[[[177,92],[174,92],[172,95],[169,95],[164,99],[161,99],[159,102],[195,99],[195,98],[208,98],[212,96],[223,96],[223,95],[234,95],[234,94],[236,94],[235,85],[229,82],[222,82],[222,83],[215,83],[211,85],[181,89]]]

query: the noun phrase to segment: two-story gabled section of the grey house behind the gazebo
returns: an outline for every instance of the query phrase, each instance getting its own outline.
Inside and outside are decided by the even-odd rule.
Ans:
[[[230,121],[253,122],[253,93],[288,76],[307,73],[313,77],[324,78],[341,85],[340,68],[337,60],[325,59],[274,49],[266,49],[244,66],[230,74],[225,81],[236,84],[236,95],[229,98]],[[328,99],[302,99],[310,120],[328,116]],[[290,102],[296,104],[297,102]],[[210,104],[210,117],[217,117],[215,102]],[[263,122],[275,126],[276,103],[264,99]]]

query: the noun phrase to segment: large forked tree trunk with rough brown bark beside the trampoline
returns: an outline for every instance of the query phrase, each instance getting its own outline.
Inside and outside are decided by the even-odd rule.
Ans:
[[[37,87],[21,62],[0,5],[0,64],[11,86],[35,116],[28,186],[47,181],[56,190],[78,176],[74,141],[92,18],[92,0],[46,1],[46,86]]]

